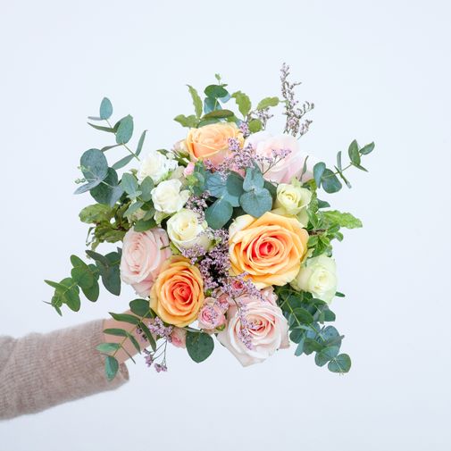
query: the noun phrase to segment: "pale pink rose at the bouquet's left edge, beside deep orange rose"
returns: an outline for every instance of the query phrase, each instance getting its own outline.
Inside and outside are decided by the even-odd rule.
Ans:
[[[169,238],[163,229],[136,232],[131,228],[123,239],[121,280],[139,296],[149,296],[163,263],[171,256]]]

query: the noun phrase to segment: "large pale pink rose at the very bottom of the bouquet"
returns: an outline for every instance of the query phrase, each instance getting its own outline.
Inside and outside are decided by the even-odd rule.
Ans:
[[[243,366],[263,362],[277,349],[288,347],[288,322],[275,303],[272,288],[265,288],[268,301],[253,296],[239,296],[238,306],[231,305],[227,327],[218,333],[218,340],[235,355]],[[243,330],[242,320],[248,327]],[[246,332],[244,334],[243,332]],[[247,337],[248,342],[245,343]]]

